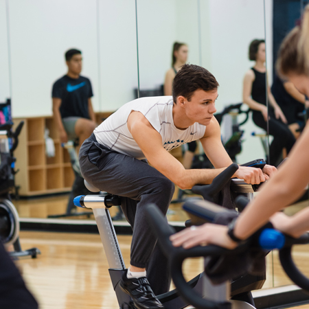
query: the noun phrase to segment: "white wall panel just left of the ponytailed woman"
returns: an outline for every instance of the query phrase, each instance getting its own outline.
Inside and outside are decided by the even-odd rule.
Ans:
[[[163,84],[176,41],[176,0],[137,1],[140,89]]]

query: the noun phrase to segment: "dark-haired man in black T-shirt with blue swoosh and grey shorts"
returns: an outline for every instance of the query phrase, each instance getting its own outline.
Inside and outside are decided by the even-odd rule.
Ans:
[[[80,76],[82,52],[69,49],[65,60],[67,74],[56,80],[52,89],[54,119],[62,143],[78,138],[82,145],[96,127],[91,104],[93,92],[89,78]]]

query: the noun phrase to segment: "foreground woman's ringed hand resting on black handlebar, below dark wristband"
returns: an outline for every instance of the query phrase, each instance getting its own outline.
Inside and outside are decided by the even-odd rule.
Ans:
[[[207,244],[216,244],[217,246],[227,249],[234,249],[237,247],[237,243],[233,242],[227,235],[227,226],[214,225],[211,223],[206,223],[200,227],[184,229],[170,236],[170,240],[174,247],[183,246],[185,249],[197,245],[206,246]]]

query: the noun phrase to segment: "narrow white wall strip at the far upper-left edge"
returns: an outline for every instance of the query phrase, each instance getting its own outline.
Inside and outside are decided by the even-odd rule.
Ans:
[[[0,102],[10,98],[10,75],[8,66],[8,29],[5,0],[0,0]]]

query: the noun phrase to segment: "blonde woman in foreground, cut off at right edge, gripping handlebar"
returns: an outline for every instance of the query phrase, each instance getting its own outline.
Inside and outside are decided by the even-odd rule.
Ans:
[[[301,26],[286,36],[279,49],[277,71],[285,80],[309,97],[309,5]],[[253,203],[236,220],[235,240],[245,240],[268,220],[275,229],[295,238],[309,230],[309,207],[292,217],[277,212],[297,200],[309,183],[309,124],[290,151],[289,159],[268,181]],[[196,229],[185,229],[171,236],[175,247],[194,247],[198,244],[217,244],[233,249],[237,242],[227,234],[228,227],[207,223]]]

